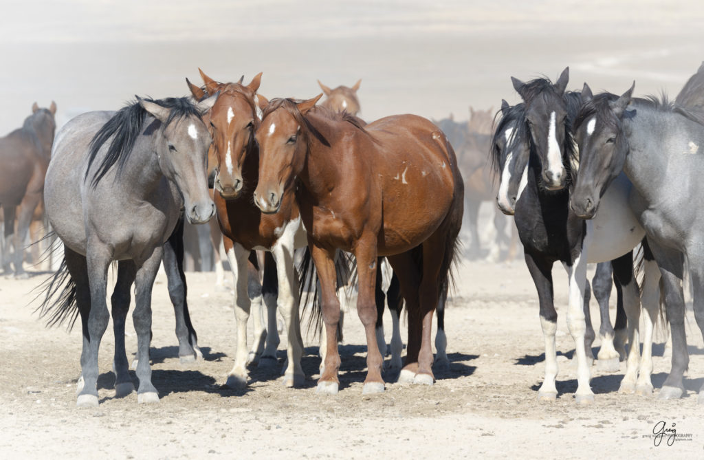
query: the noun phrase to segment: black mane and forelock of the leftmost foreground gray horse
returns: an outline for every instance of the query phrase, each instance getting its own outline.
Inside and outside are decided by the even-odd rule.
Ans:
[[[187,97],[169,97],[167,99],[157,100],[146,98],[144,100],[170,109],[165,127],[170,125],[172,121],[181,118],[196,116],[199,120],[203,119],[200,111],[191,102],[190,98]],[[147,111],[144,110],[138,101],[134,101],[120,108],[113,118],[108,120],[108,122],[96,132],[89,144],[88,168],[86,168],[84,180],[88,178],[88,172],[95,161],[98,151],[103,147],[103,144],[111,138],[113,138],[113,141],[110,147],[108,147],[108,152],[100,163],[98,170],[96,170],[93,175],[91,180],[92,187],[98,185],[98,182],[100,182],[115,163],[118,163],[118,173],[122,171],[122,168],[125,167],[125,163],[127,163],[127,158],[129,158],[132,153],[135,142],[137,142],[139,133],[142,132],[142,125],[144,125],[146,115]]]

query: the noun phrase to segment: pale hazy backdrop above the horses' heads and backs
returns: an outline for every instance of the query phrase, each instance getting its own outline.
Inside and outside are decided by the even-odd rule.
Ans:
[[[514,75],[676,94],[704,60],[704,2],[13,0],[0,15],[0,135],[34,101],[59,122],[134,94],[263,71],[267,97],[363,79],[362,116],[466,118],[517,101]]]

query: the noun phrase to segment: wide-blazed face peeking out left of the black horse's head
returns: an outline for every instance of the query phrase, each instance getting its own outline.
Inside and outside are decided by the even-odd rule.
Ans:
[[[516,201],[527,183],[530,151],[525,139],[516,135],[516,125],[507,125],[495,139],[495,148],[500,152],[501,179],[496,195],[496,204],[501,212],[513,216]]]

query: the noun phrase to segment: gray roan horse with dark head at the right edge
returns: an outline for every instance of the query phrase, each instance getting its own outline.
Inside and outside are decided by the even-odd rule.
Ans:
[[[623,171],[633,183],[631,208],[660,266],[672,328],[672,368],[658,397],[679,398],[685,392],[682,376],[689,364],[683,256],[692,277],[694,317],[704,332],[704,214],[696,211],[692,200],[704,193],[700,180],[704,113],[666,99],[631,99],[632,93],[633,87],[621,97],[597,94],[580,111],[582,164],[570,204],[579,216],[591,218],[617,175]],[[698,401],[704,403],[704,388]]]

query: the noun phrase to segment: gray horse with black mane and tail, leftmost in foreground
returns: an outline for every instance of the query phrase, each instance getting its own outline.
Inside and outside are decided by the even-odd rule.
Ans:
[[[56,136],[44,199],[49,221],[64,244],[69,278],[58,303],[47,309],[69,311],[76,304],[80,312],[78,406],[98,404],[98,350],[109,319],[106,284],[112,261],[118,261],[111,297],[115,331],[124,330],[135,284],[137,401],[158,401],[149,365],[151,288],[164,243],[182,209],[191,223],[205,223],[215,213],[206,179],[210,134],[201,116],[216,98],[199,104],[185,98],[138,98],[117,113],[77,116]],[[122,397],[134,386],[127,373],[124,336],[117,334],[113,364],[115,392]]]

